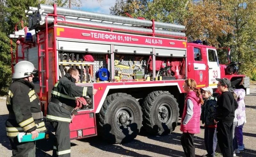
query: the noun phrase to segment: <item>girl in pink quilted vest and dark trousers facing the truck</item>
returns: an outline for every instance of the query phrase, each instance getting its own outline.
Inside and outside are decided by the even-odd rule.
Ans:
[[[183,114],[181,117],[180,142],[186,157],[195,157],[194,134],[200,133],[201,105],[204,104],[201,92],[196,89],[196,81],[187,79],[183,90],[187,93]]]

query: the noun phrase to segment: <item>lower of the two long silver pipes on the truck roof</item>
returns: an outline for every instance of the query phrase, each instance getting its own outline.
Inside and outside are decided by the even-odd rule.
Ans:
[[[37,21],[37,24],[35,26],[40,25],[40,21],[45,22],[46,15],[40,15],[37,14],[38,19],[34,20]],[[63,18],[57,17],[59,21],[64,21]],[[85,26],[85,25],[76,25],[76,24],[68,24],[68,23],[61,23],[59,22],[58,25],[66,25],[66,26],[72,26],[72,27],[79,27],[79,28],[87,28],[87,29],[96,29],[96,30],[102,30],[102,31],[109,31],[110,28],[113,29],[113,32],[121,32],[121,33],[129,33],[129,34],[144,34],[147,33],[153,33],[152,29],[148,28],[141,28],[141,27],[132,27],[132,26],[126,26],[126,25],[116,25],[116,24],[108,24],[108,23],[100,23],[100,22],[93,22],[93,21],[86,21],[86,20],[79,20],[79,19],[72,19],[72,18],[65,18],[66,22],[72,22],[76,24],[85,24],[85,25],[92,25],[92,26]],[[53,17],[47,17],[47,24],[51,25],[54,21]],[[101,26],[101,27],[108,27],[108,28],[100,28],[95,26]],[[115,29],[123,29],[123,30],[115,30]],[[126,31],[127,30],[127,31]],[[138,32],[131,32],[131,31],[138,31]],[[163,34],[163,35],[172,35],[172,36],[179,36],[179,37],[185,37],[185,33],[181,32],[172,32],[172,31],[165,31],[165,30],[155,30],[155,33],[157,34]],[[157,35],[160,37],[161,35]],[[165,37],[168,38],[168,37]]]

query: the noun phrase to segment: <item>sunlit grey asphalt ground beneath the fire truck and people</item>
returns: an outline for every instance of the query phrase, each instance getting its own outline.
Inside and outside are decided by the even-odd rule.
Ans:
[[[244,126],[244,144],[246,149],[236,154],[240,157],[256,156],[256,85],[251,86],[251,94],[246,98],[246,119]],[[9,139],[6,137],[5,120],[8,118],[5,100],[0,98],[0,150],[3,156],[12,156]],[[249,124],[248,124],[249,123]],[[51,130],[51,129],[50,129]],[[180,125],[174,132],[166,136],[151,136],[141,129],[140,134],[130,143],[123,145],[108,144],[100,137],[95,136],[80,140],[71,140],[72,157],[183,157],[183,149],[180,144]],[[52,144],[54,134],[50,134],[49,140],[36,142],[36,157],[52,156]],[[195,135],[196,157],[206,154],[204,147],[204,127],[201,124],[201,133]],[[216,157],[222,156],[217,146]]]

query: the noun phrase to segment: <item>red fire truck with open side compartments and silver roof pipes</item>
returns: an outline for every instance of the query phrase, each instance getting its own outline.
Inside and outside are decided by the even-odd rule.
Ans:
[[[217,89],[227,77],[249,92],[249,78],[236,62],[221,65],[217,49],[188,42],[185,26],[39,4],[30,7],[28,27],[16,30],[15,63],[27,60],[44,116],[51,90],[68,68],[80,72],[78,86],[98,89],[70,124],[70,139],[102,136],[111,143],[134,139],[142,125],[155,135],[172,132],[183,111],[187,78],[197,88]],[[11,40],[12,41],[12,40]],[[16,40],[15,40],[16,41]]]

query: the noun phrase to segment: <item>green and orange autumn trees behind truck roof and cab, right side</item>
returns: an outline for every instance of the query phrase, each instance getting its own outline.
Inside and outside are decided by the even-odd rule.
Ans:
[[[116,0],[110,13],[186,26],[188,41],[207,40],[209,45],[230,47],[232,61],[243,60],[240,73],[252,76],[256,67],[256,1],[250,0]],[[124,15],[123,15],[124,16]],[[227,50],[218,52],[226,63]]]

